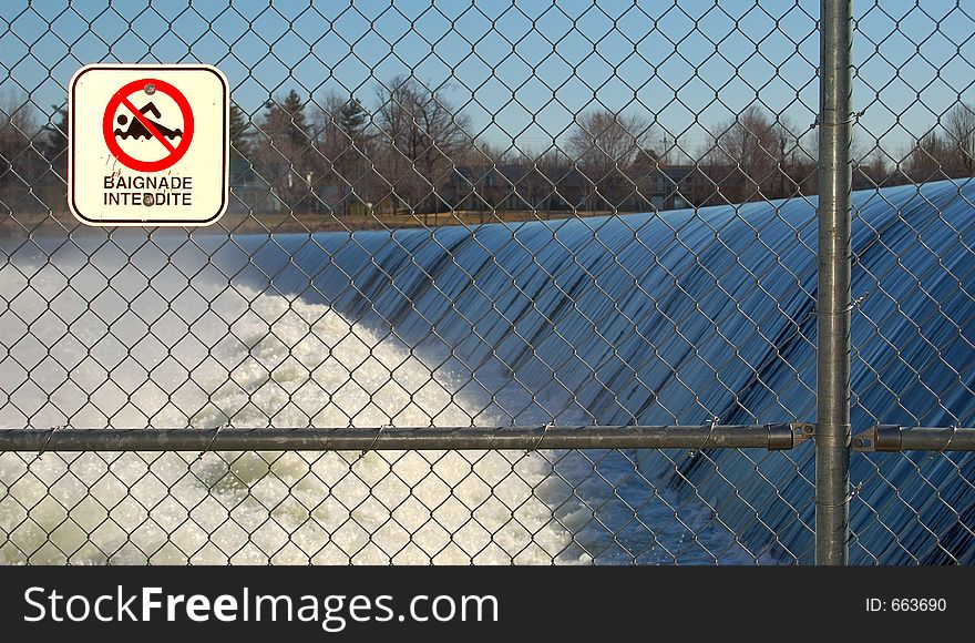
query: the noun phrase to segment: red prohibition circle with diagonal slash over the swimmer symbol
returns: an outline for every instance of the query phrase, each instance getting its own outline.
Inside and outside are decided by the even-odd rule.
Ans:
[[[166,94],[179,106],[179,111],[183,113],[183,133],[179,136],[178,145],[174,146],[170,143],[158,129],[138,111],[138,108],[129,100],[129,96],[132,94],[145,91],[146,85],[155,86],[155,91]],[[115,140],[114,132],[115,112],[119,111],[120,105],[129,110],[132,113],[131,118],[142,123],[142,126],[148,131],[152,137],[162,143],[168,154],[157,161],[143,161],[122,150],[119,141]],[[178,163],[179,159],[189,150],[189,143],[193,141],[193,110],[189,109],[189,101],[186,100],[183,92],[165,81],[157,79],[133,81],[115,92],[112,100],[109,101],[109,105],[105,108],[105,116],[102,120],[102,133],[105,136],[105,144],[109,146],[109,151],[126,167],[137,172],[161,172]]]

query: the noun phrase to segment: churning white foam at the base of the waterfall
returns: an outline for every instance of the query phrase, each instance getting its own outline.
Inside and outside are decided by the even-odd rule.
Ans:
[[[327,306],[93,266],[0,267],[0,426],[490,421]],[[543,455],[504,451],[2,453],[0,484],[8,564],[586,562],[568,521],[592,518],[545,502],[572,493]]]

